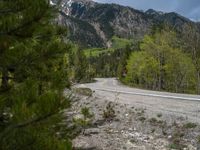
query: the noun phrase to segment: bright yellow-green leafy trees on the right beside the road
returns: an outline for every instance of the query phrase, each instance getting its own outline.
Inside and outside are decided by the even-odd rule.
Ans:
[[[187,31],[187,37],[178,37],[169,28],[146,35],[139,49],[122,64],[125,76],[120,73],[120,79],[125,84],[151,90],[199,94],[200,47],[195,34]]]

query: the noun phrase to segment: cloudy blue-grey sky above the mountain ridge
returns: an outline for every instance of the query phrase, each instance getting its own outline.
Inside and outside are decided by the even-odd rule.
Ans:
[[[177,12],[191,20],[200,21],[200,0],[94,0],[102,3],[116,3],[139,10],[155,9],[163,12]]]

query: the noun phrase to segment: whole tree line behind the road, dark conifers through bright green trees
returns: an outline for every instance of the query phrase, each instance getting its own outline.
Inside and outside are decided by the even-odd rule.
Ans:
[[[142,40],[88,58],[94,77],[118,77],[145,89],[200,94],[200,34],[191,24],[183,31],[153,28]],[[124,43],[126,44],[126,43]]]

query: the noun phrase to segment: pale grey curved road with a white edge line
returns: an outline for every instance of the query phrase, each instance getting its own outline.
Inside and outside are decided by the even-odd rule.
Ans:
[[[130,88],[120,84],[115,78],[97,78],[97,82],[81,84],[95,91],[95,96],[117,101],[130,106],[144,108],[147,114],[162,113],[166,119],[188,119],[200,123],[200,96],[176,94]]]

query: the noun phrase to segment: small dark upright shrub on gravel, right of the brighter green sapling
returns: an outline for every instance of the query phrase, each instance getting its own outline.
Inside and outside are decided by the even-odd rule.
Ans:
[[[112,120],[115,117],[114,105],[109,102],[106,106],[106,109],[103,111],[103,118],[106,120]]]

